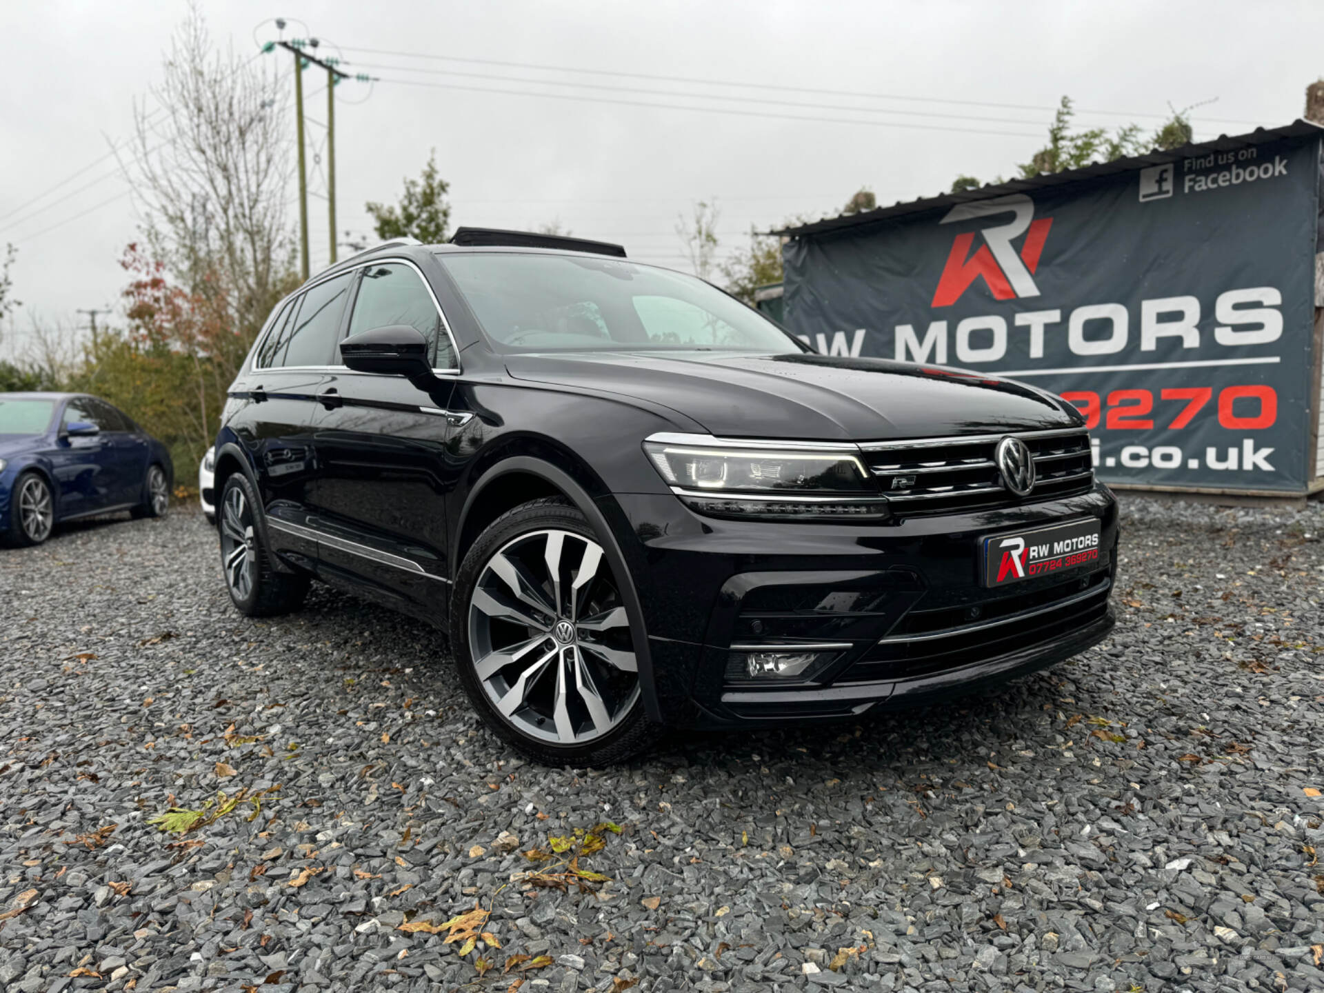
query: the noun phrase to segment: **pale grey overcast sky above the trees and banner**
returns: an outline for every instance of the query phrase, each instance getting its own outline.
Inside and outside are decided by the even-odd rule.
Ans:
[[[944,191],[959,173],[1010,175],[1042,143],[1062,94],[1086,126],[1149,128],[1169,103],[1213,101],[1193,111],[1197,139],[1207,139],[1300,117],[1304,87],[1324,73],[1324,4],[1304,0],[201,8],[216,40],[241,54],[277,37],[269,19],[283,16],[286,37],[323,38],[322,52],[338,46],[350,71],[381,77],[338,89],[342,232],[371,236],[364,201],[395,201],[436,147],[453,224],[559,220],[677,267],[686,266],[677,214],[699,199],[720,205],[730,250],[751,225],[837,213],[862,185],[883,204]],[[86,322],[78,308],[119,306],[118,258],[139,220],[115,160],[33,197],[130,135],[134,101],[148,99],[185,13],[160,0],[7,4],[0,244],[19,248],[13,290],[24,306],[0,357],[21,351],[32,316],[74,324]],[[262,58],[293,95],[290,57]],[[306,77],[318,122],[319,75]],[[639,106],[649,103],[667,106]],[[316,124],[308,135],[320,144]],[[315,270],[327,260],[324,200],[312,197],[310,212]]]

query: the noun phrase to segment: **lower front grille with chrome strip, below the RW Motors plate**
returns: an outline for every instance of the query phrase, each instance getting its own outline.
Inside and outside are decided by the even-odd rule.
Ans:
[[[1068,636],[1107,613],[1108,572],[984,601],[973,620],[969,608],[911,610],[846,670],[842,681],[928,675]]]

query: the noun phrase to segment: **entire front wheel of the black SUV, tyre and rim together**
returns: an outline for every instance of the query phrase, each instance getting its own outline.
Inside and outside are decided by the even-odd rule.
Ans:
[[[568,502],[524,503],[474,542],[451,598],[469,699],[515,749],[548,765],[604,765],[646,748],[621,596],[602,543]]]

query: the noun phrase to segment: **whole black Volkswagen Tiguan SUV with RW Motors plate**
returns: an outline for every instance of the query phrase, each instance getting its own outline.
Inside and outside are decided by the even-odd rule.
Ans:
[[[216,441],[225,581],[449,633],[547,763],[944,700],[1112,628],[1117,508],[1031,387],[817,355],[614,245],[461,229],[271,314]]]

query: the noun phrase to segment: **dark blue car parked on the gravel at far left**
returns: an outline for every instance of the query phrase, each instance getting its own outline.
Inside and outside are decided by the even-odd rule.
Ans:
[[[0,542],[41,544],[56,524],[128,510],[164,516],[169,451],[83,393],[0,393]]]

